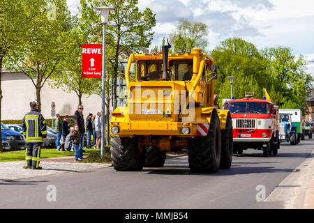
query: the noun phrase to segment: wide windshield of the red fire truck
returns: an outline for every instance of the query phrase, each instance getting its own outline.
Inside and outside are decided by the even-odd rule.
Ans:
[[[227,102],[225,109],[232,114],[268,114],[269,104],[266,102]]]

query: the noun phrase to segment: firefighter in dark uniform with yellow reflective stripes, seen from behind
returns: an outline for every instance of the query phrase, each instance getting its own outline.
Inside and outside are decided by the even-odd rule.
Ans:
[[[23,118],[22,130],[26,138],[26,164],[24,169],[42,169],[39,167],[40,147],[47,137],[45,118],[38,112],[36,102],[30,102],[31,112]]]

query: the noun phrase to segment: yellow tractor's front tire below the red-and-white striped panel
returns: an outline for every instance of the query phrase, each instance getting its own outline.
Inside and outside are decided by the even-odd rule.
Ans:
[[[188,163],[194,173],[216,173],[220,165],[221,133],[216,110],[211,114],[211,123],[206,137],[188,140]]]

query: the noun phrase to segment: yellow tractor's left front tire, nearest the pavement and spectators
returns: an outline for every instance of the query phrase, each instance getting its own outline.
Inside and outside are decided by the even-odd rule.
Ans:
[[[144,167],[144,153],[140,153],[137,148],[135,137],[120,138],[111,135],[110,153],[112,166],[117,171],[140,171]]]

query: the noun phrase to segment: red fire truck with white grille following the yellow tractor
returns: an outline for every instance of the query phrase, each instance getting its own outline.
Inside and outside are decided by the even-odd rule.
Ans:
[[[224,109],[231,112],[233,126],[233,153],[253,148],[262,150],[265,157],[277,155],[278,107],[268,100],[260,100],[246,95],[246,98],[228,100]]]

